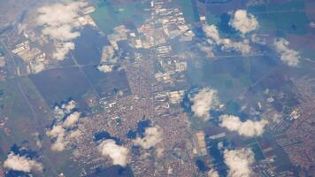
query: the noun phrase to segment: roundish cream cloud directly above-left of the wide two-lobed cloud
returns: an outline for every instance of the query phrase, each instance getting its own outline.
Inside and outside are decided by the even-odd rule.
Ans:
[[[195,116],[203,119],[209,119],[211,109],[219,106],[218,91],[215,89],[204,88],[190,100],[193,102],[191,109]]]

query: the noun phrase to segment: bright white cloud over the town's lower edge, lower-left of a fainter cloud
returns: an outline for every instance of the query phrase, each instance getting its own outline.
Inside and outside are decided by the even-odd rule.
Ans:
[[[109,157],[113,165],[127,165],[129,150],[123,146],[119,146],[113,140],[105,140],[99,144],[99,151],[103,156]]]

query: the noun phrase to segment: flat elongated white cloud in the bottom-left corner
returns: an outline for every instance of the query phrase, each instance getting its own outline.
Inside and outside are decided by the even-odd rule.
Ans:
[[[4,167],[25,173],[31,173],[32,171],[42,172],[43,169],[41,163],[36,162],[31,158],[15,155],[13,152],[11,152],[8,155],[8,158],[4,161]]]

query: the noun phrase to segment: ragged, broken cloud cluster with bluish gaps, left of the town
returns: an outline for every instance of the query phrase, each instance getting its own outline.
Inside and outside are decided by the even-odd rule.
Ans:
[[[56,139],[55,142],[51,144],[51,150],[65,150],[65,146],[68,143],[67,139],[72,139],[81,135],[79,129],[73,129],[73,127],[77,126],[77,123],[81,118],[81,112],[73,111],[75,106],[76,103],[73,100],[62,104],[61,106],[56,106],[55,114],[57,120],[53,127],[46,131],[46,135]]]

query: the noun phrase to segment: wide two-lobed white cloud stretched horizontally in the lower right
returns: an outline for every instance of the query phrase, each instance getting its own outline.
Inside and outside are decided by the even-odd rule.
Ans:
[[[262,119],[260,121],[246,120],[241,121],[239,117],[233,115],[220,116],[220,127],[226,127],[229,131],[235,131],[239,135],[243,136],[259,136],[265,132],[265,126],[268,123],[267,120]]]

